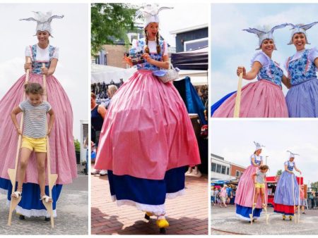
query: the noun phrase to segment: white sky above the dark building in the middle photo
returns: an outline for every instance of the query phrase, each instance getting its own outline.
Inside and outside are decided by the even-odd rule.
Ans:
[[[166,2],[165,4],[159,4],[159,7],[161,6],[173,7],[173,9],[163,10],[159,13],[160,35],[172,47],[175,47],[175,36],[170,34],[171,31],[208,24],[209,4],[176,4],[175,2]]]

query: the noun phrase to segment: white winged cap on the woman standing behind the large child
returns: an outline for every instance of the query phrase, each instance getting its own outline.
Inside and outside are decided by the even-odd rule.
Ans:
[[[36,21],[37,22],[37,28],[35,35],[38,31],[44,32],[47,31],[49,32],[49,35],[52,36],[52,27],[51,27],[51,22],[54,18],[64,18],[64,15],[52,15],[52,11],[48,11],[46,13],[42,13],[40,11],[33,11],[34,13],[34,18],[23,18],[20,20],[28,20],[28,21]]]

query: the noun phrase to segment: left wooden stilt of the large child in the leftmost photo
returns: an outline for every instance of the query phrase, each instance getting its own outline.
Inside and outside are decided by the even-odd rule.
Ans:
[[[31,63],[31,58],[28,57],[27,63]],[[29,75],[30,75],[30,69],[28,69],[25,73],[25,84],[29,82]],[[23,101],[25,101],[25,90],[23,87]],[[22,113],[20,118],[20,130],[23,132],[23,116],[24,113]],[[8,175],[11,180],[12,184],[12,192],[16,192],[16,173],[18,170],[18,160],[19,160],[19,154],[20,154],[20,146],[22,141],[22,135],[19,134],[18,136],[18,145],[16,146],[16,163],[14,165],[14,168],[8,168]],[[9,216],[8,216],[8,225],[11,225],[12,220],[12,213],[14,209],[16,209],[16,206],[18,206],[18,203],[21,201],[21,196],[18,198],[11,196],[11,202],[10,202],[10,210],[9,210]]]

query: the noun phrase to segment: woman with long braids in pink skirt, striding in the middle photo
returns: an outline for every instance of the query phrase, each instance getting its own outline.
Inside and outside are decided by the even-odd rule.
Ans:
[[[100,134],[95,168],[107,169],[112,200],[136,206],[146,219],[157,218],[160,232],[169,226],[165,199],[184,194],[185,166],[200,163],[199,149],[187,108],[171,82],[154,70],[169,68],[167,43],[159,36],[156,4],[141,8],[145,39],[133,42],[144,63],[118,89]],[[132,65],[131,58],[126,62]]]

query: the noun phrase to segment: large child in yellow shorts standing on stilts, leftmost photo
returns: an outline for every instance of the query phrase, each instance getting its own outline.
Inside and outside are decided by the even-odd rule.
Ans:
[[[52,202],[52,198],[45,194],[45,158],[47,156],[47,136],[49,136],[54,123],[54,112],[47,101],[42,100],[43,89],[38,83],[25,84],[25,100],[13,108],[11,119],[18,134],[22,135],[20,151],[20,170],[18,170],[18,188],[11,194],[19,198],[22,194],[25,170],[32,151],[35,151],[37,158],[37,176],[40,185],[40,200]],[[21,131],[16,115],[24,112],[23,132]],[[46,131],[47,113],[49,113],[49,125]]]

